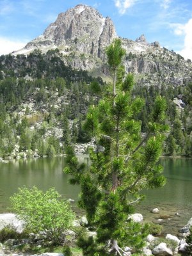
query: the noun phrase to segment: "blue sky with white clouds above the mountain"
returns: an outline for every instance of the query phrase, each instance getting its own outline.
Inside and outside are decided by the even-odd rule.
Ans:
[[[144,34],[192,60],[192,0],[0,0],[0,55],[24,47],[77,4],[111,17],[118,36]]]

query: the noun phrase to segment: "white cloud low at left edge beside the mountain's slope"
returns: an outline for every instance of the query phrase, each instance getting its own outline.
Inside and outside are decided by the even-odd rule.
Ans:
[[[26,43],[27,42],[0,37],[0,55],[9,54],[12,51],[17,51],[24,47]]]

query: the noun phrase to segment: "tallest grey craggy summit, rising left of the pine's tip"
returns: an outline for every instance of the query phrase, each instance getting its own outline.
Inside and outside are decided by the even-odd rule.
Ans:
[[[78,4],[67,12],[60,13],[56,21],[22,51],[60,47],[64,52],[79,51],[102,58],[102,49],[111,44],[115,37],[115,27],[109,17],[102,17],[95,8]]]

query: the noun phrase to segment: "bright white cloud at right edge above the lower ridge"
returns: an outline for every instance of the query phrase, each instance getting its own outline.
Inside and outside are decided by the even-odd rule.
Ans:
[[[185,59],[191,59],[192,60],[192,19],[189,19],[188,23],[184,25],[184,48],[179,52],[180,55],[182,55]]]

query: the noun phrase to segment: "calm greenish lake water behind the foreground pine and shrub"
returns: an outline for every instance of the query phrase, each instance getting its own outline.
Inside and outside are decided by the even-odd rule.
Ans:
[[[88,163],[88,157],[80,157],[80,161]],[[145,191],[147,198],[138,205],[138,212],[145,221],[163,219],[164,232],[176,234],[192,217],[192,159],[161,159],[164,166],[166,185],[161,189]],[[79,188],[68,184],[68,175],[62,172],[65,167],[64,157],[52,159],[17,160],[0,163],[0,212],[8,212],[9,198],[17,192],[17,188],[36,186],[44,191],[55,187],[67,198],[77,200]],[[159,214],[150,210],[159,208]],[[175,213],[179,212],[179,216]]]

